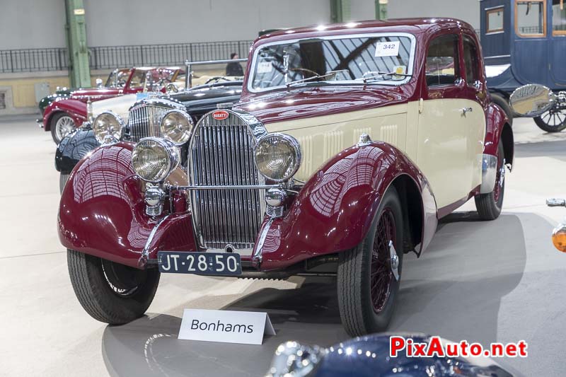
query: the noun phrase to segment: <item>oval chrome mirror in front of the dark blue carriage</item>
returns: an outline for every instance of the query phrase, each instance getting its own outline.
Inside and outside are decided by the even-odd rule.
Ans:
[[[555,102],[555,94],[549,88],[529,83],[516,88],[509,98],[514,112],[524,117],[538,117],[550,110]]]

